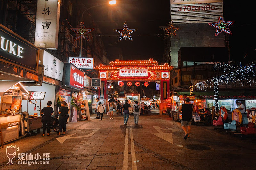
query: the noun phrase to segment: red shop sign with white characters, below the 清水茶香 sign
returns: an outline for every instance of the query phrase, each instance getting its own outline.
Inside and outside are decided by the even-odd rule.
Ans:
[[[76,88],[78,90],[84,89],[84,72],[76,68],[71,63],[65,63],[66,76],[65,86]]]

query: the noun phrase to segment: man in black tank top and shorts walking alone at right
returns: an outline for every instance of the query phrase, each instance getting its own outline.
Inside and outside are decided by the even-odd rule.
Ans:
[[[187,97],[185,103],[180,106],[179,111],[182,111],[181,128],[185,132],[184,139],[190,138],[189,134],[191,132],[192,123],[192,112],[195,113],[195,107],[190,103],[190,99]]]

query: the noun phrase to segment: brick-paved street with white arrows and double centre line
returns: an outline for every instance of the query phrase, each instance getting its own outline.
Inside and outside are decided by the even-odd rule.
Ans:
[[[7,144],[19,147],[13,165],[7,165],[6,145],[0,149],[1,169],[101,169],[180,170],[255,169],[255,140],[213,130],[213,126],[192,126],[191,138],[184,140],[180,122],[159,110],[141,115],[135,125],[133,115],[124,125],[114,113],[103,120],[69,122],[67,134],[30,137]],[[18,154],[25,156],[19,156]],[[30,154],[31,153],[31,154]],[[46,153],[50,156],[47,159]],[[32,155],[32,158],[29,157]],[[37,155],[37,157],[36,157]],[[38,159],[38,155],[42,159]],[[23,162],[21,160],[23,159]],[[28,160],[37,164],[28,165]],[[49,164],[40,164],[47,163]],[[19,164],[24,163],[24,164]]]

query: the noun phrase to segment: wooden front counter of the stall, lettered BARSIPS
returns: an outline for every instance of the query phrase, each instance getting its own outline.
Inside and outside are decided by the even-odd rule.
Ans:
[[[3,142],[19,138],[21,115],[0,115]]]

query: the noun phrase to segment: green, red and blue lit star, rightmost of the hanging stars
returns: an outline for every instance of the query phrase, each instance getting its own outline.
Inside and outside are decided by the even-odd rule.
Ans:
[[[225,22],[224,19],[222,18],[222,16],[220,15],[219,22],[209,23],[209,25],[214,26],[214,27],[217,28],[215,36],[217,36],[222,31],[232,35],[232,33],[231,33],[231,31],[229,30],[228,27],[231,26],[234,23],[235,23],[235,21]]]

